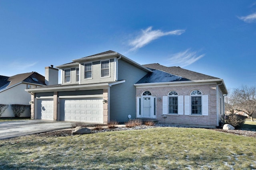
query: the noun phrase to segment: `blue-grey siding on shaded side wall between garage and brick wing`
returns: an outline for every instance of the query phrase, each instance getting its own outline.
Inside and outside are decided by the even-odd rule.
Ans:
[[[118,61],[118,80],[126,80],[121,84],[110,87],[110,121],[119,122],[128,121],[128,115],[131,119],[136,118],[136,88],[134,84],[138,82],[146,71],[126,63]]]

